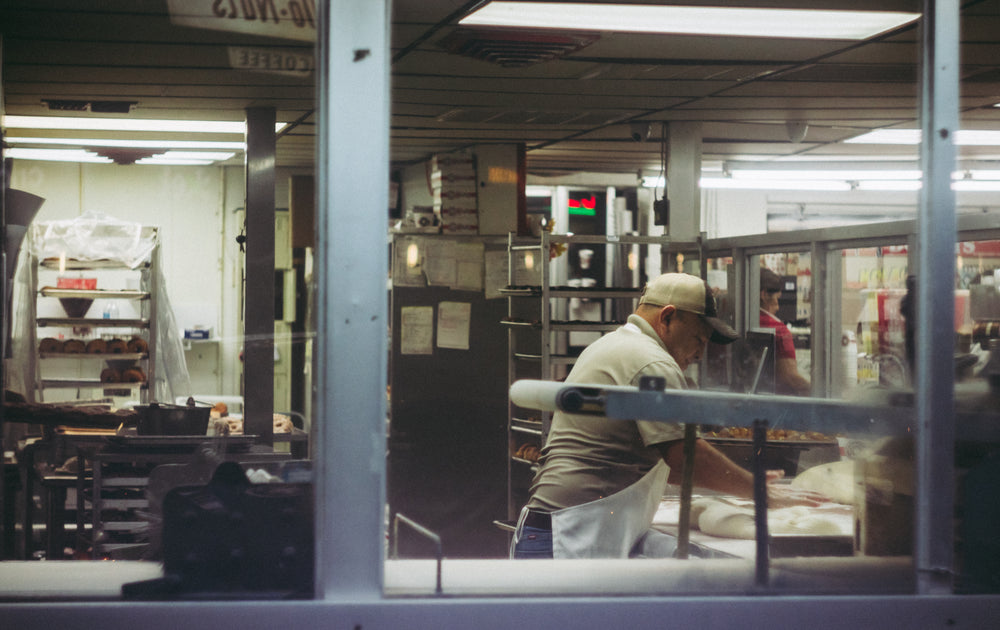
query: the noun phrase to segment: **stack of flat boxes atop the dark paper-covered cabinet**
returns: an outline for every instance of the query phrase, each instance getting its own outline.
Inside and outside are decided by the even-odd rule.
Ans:
[[[449,153],[431,158],[431,192],[434,212],[441,217],[442,234],[478,234],[476,158]]]

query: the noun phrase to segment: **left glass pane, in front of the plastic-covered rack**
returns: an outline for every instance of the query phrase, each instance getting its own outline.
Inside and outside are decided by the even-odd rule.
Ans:
[[[314,29],[293,4],[296,28]],[[210,9],[181,25],[173,5],[2,9],[0,179],[13,189],[7,232],[25,233],[6,259],[4,332],[16,333],[0,557],[47,562],[3,563],[13,579],[0,581],[17,591],[50,571],[42,597],[108,599],[123,579],[167,572],[207,597],[311,597],[314,44],[213,28],[229,18]],[[244,130],[245,108],[261,102],[274,120]],[[111,124],[46,130],[12,116]],[[157,120],[173,130],[126,129]],[[248,136],[276,145],[257,158],[259,194]],[[15,146],[98,159],[28,159]],[[146,586],[155,596],[165,583]]]

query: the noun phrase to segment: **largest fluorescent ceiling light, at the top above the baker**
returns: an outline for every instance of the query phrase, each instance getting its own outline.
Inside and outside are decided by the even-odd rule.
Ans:
[[[892,11],[498,1],[490,2],[467,15],[459,20],[459,24],[679,35],[861,40],[909,24],[919,17],[919,13]]]

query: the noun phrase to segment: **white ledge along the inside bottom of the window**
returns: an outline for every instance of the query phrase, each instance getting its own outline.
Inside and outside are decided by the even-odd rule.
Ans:
[[[385,594],[433,597],[434,560],[389,560]],[[910,558],[788,558],[771,563],[774,593],[912,593]],[[0,562],[0,601],[120,600],[129,582],[162,576],[146,561]],[[444,560],[446,596],[745,595],[759,592],[754,565],[713,560]]]

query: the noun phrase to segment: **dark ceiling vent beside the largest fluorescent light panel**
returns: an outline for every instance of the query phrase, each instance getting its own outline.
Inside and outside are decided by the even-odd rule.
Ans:
[[[589,32],[460,28],[438,45],[455,55],[489,61],[505,68],[523,68],[564,57],[586,48],[600,37],[598,33]]]

